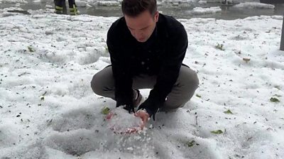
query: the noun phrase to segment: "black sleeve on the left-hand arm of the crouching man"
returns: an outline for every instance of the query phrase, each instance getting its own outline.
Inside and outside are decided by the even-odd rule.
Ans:
[[[129,57],[124,55],[119,43],[119,33],[114,31],[114,24],[107,33],[107,47],[111,58],[114,76],[116,106],[131,105],[133,99],[132,78],[129,71]]]

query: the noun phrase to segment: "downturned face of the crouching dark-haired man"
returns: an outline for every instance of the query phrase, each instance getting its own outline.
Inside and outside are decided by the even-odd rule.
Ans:
[[[151,15],[149,11],[143,11],[136,17],[124,15],[126,26],[129,28],[131,35],[133,35],[138,42],[144,43],[150,38],[154,29],[155,23],[158,21],[158,11],[155,15]]]

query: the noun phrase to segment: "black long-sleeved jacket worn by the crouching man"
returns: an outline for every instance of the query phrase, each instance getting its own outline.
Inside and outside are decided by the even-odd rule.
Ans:
[[[165,102],[175,84],[187,50],[187,33],[175,18],[160,13],[155,30],[139,43],[126,26],[125,18],[115,21],[107,34],[107,46],[115,79],[115,99],[132,104],[132,77],[158,75],[149,99]]]

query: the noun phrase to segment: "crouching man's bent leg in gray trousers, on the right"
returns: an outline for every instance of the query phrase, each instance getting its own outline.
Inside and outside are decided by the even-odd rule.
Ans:
[[[195,94],[198,84],[199,79],[196,72],[182,65],[178,79],[160,111],[175,111],[184,106]]]

